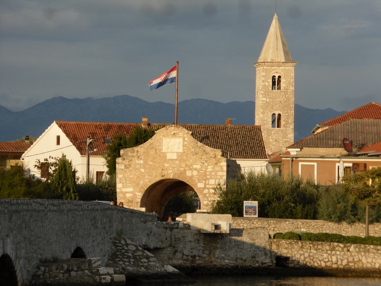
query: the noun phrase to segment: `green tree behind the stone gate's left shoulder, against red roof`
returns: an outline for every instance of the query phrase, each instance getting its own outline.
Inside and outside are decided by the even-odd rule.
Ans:
[[[132,133],[126,137],[126,134],[117,134],[113,136],[113,143],[107,146],[107,151],[103,154],[106,160],[107,175],[115,176],[116,159],[120,157],[122,149],[132,148],[147,142],[153,135],[155,130],[150,128],[142,128],[138,125]]]

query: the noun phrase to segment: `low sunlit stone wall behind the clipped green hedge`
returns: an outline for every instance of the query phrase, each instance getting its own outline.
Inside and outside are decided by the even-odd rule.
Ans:
[[[233,228],[265,228],[268,230],[271,236],[276,233],[285,232],[329,233],[365,236],[365,225],[362,223],[347,224],[345,222],[333,223],[324,220],[259,217],[233,217],[232,219]],[[369,235],[381,236],[381,223],[370,224]]]

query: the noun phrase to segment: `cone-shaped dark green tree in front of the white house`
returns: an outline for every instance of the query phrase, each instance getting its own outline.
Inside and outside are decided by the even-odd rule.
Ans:
[[[58,160],[57,169],[51,180],[51,188],[64,200],[78,200],[76,191],[76,169],[65,154]]]

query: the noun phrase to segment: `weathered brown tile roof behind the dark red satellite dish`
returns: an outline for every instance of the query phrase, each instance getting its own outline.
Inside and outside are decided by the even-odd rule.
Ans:
[[[341,148],[343,138],[363,146],[381,141],[381,119],[349,119],[302,139],[287,148]]]

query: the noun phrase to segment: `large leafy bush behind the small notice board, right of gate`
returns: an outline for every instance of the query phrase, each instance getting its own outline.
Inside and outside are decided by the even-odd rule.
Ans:
[[[239,174],[215,191],[218,200],[212,203],[212,212],[232,216],[243,216],[243,201],[258,201],[259,217],[316,219],[320,198],[314,182],[254,172]]]

